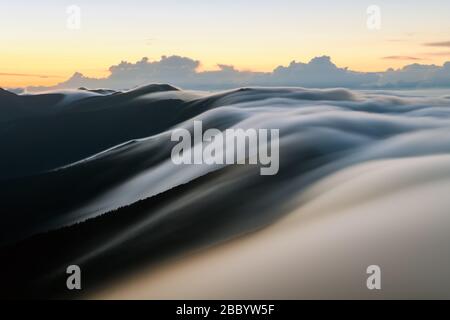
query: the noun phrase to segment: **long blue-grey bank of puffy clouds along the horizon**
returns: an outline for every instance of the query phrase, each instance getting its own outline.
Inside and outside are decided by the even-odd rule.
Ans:
[[[393,57],[389,57],[393,58]],[[242,86],[299,86],[306,88],[345,87],[434,88],[450,86],[450,62],[443,66],[411,64],[385,72],[357,72],[336,66],[328,56],[308,63],[292,61],[272,72],[237,70],[232,65],[218,65],[216,71],[199,71],[200,61],[181,56],[162,56],[150,61],[144,57],[136,63],[122,61],[109,68],[106,78],[90,78],[76,72],[67,81],[53,87],[29,87],[30,91],[52,89],[110,88],[130,89],[149,83],[170,83],[184,89],[216,90]]]

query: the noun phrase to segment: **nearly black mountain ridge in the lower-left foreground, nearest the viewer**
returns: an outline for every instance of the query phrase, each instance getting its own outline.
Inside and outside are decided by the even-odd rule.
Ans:
[[[276,217],[270,212],[271,206],[261,207],[255,216],[243,205],[244,201],[258,202],[265,192],[263,184],[255,187],[256,181],[242,185],[240,197],[222,204],[224,195],[212,193],[201,204],[186,202],[167,212],[166,217],[160,216],[161,210],[174,202],[211,190],[216,181],[226,179],[227,170],[230,169],[83,223],[0,247],[1,261],[7,261],[0,265],[0,272],[8,275],[2,283],[1,295],[9,298],[65,296],[68,294],[65,269],[71,264],[80,265],[86,283],[83,292],[91,292],[111,277],[142,263],[154,263],[186,250],[210,246],[273,221]],[[122,242],[116,242],[117,237],[127,233],[130,235]],[[94,252],[98,253],[91,256]]]

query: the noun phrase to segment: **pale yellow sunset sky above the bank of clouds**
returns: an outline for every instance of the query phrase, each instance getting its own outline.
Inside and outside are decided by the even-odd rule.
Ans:
[[[80,28],[67,8],[81,9]],[[380,29],[367,8],[380,8]],[[450,61],[450,2],[442,0],[0,0],[0,86],[45,86],[74,72],[106,77],[142,57],[179,55],[238,70],[273,71],[331,56],[384,71]]]

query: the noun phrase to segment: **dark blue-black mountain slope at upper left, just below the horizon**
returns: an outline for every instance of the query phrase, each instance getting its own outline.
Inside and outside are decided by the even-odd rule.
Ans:
[[[186,120],[178,117],[185,105],[181,100],[137,99],[174,90],[169,85],[149,85],[67,103],[63,94],[0,96],[4,123],[0,145],[5,155],[0,162],[1,179],[63,166]]]

